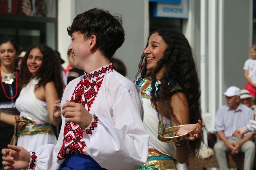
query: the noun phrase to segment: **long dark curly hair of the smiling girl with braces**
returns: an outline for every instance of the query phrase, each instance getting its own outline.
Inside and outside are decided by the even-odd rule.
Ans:
[[[168,91],[170,91],[169,89],[173,88],[173,84],[168,83],[171,80],[179,84],[183,89],[182,92],[186,95],[188,100],[190,123],[196,124],[199,119],[202,120],[200,108],[201,92],[196,64],[194,62],[192,50],[188,40],[182,33],[171,29],[158,30],[152,32],[150,36],[154,33],[158,33],[162,37],[167,44],[167,48],[163,53],[161,60],[158,61],[153,72],[147,72],[145,55],[143,54],[141,56],[139,71],[137,73],[137,75],[141,73],[141,77],[138,79],[138,81],[151,76],[151,102],[156,107],[155,109],[158,113],[166,116],[176,124],[180,124],[180,122],[173,114],[173,108],[170,106],[170,97],[174,93],[168,93]],[[161,84],[158,86],[158,90],[156,91],[156,73],[164,65],[166,69],[163,73],[163,77],[161,78]],[[189,141],[192,156],[195,156],[199,151],[202,141],[203,135],[201,135],[201,137],[195,141]]]

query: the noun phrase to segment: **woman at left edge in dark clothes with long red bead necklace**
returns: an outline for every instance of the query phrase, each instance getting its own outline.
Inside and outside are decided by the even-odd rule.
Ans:
[[[18,56],[18,46],[10,39],[0,41],[0,149],[6,148],[11,142],[14,127],[1,121],[3,113],[18,115],[15,108],[15,101],[19,96],[18,91],[18,70],[14,66]],[[2,162],[2,154],[0,162]],[[0,164],[0,168],[2,164]]]

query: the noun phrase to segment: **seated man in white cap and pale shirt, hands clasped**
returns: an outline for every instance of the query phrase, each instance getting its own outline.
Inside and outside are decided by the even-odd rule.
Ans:
[[[249,120],[253,120],[252,109],[240,104],[240,89],[231,86],[224,92],[227,105],[217,110],[215,129],[218,141],[214,151],[221,170],[228,169],[226,152],[236,154],[239,151],[245,153],[244,169],[252,169],[255,156],[255,145],[252,142],[253,134],[247,133],[242,139],[232,136],[232,133],[245,126]]]

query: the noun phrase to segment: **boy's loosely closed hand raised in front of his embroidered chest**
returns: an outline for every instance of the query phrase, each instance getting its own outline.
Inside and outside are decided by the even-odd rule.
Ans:
[[[74,103],[67,100],[67,103],[62,106],[62,115],[66,122],[77,123],[82,129],[87,128],[93,116],[79,103]]]

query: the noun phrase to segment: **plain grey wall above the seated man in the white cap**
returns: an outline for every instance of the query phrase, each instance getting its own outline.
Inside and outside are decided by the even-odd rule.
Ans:
[[[244,88],[243,65],[250,57],[249,42],[251,13],[250,1],[225,0],[224,1],[224,61],[223,61],[223,90],[229,86]],[[225,100],[223,100],[225,103]]]

